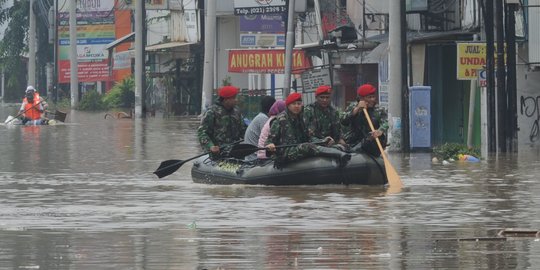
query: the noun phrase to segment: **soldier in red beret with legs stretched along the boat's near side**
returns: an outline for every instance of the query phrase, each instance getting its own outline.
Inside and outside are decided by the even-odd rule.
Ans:
[[[302,95],[290,94],[285,104],[287,109],[278,114],[270,127],[266,147],[275,152],[272,158],[276,166],[281,167],[287,162],[312,156],[337,158],[340,166],[350,160],[351,156],[337,149],[317,146],[309,142],[309,133],[302,118]],[[297,146],[280,148],[280,145],[298,144]]]

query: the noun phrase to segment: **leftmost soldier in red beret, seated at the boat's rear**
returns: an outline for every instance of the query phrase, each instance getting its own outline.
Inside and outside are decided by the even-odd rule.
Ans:
[[[197,130],[199,143],[213,158],[225,155],[233,142],[244,138],[246,124],[236,106],[238,88],[224,86],[218,89],[218,100],[204,114]],[[223,149],[222,149],[223,148]]]

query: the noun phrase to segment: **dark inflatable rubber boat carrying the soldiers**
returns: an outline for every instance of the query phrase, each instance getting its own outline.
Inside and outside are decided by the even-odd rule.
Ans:
[[[351,154],[346,166],[329,157],[310,157],[276,168],[272,160],[248,162],[234,158],[198,158],[191,169],[193,182],[248,185],[384,185],[384,161],[364,153]]]

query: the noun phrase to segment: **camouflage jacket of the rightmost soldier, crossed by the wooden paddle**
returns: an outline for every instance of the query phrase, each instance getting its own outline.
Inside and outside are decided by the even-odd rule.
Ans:
[[[345,142],[350,145],[358,144],[364,138],[368,137],[371,132],[371,128],[369,127],[369,123],[367,122],[363,111],[359,111],[358,114],[352,115],[356,104],[357,102],[349,104],[341,119],[341,124],[348,129],[343,137],[345,138]],[[388,130],[388,114],[386,109],[382,107],[368,108],[368,113],[371,117],[373,127],[386,134]]]

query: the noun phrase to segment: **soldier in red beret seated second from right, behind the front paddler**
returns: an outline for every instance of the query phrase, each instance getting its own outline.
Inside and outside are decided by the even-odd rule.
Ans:
[[[336,142],[344,149],[346,143],[341,135],[339,111],[331,104],[332,88],[321,85],[315,91],[316,101],[304,107],[304,122],[307,125],[310,141],[326,141],[327,146]]]

